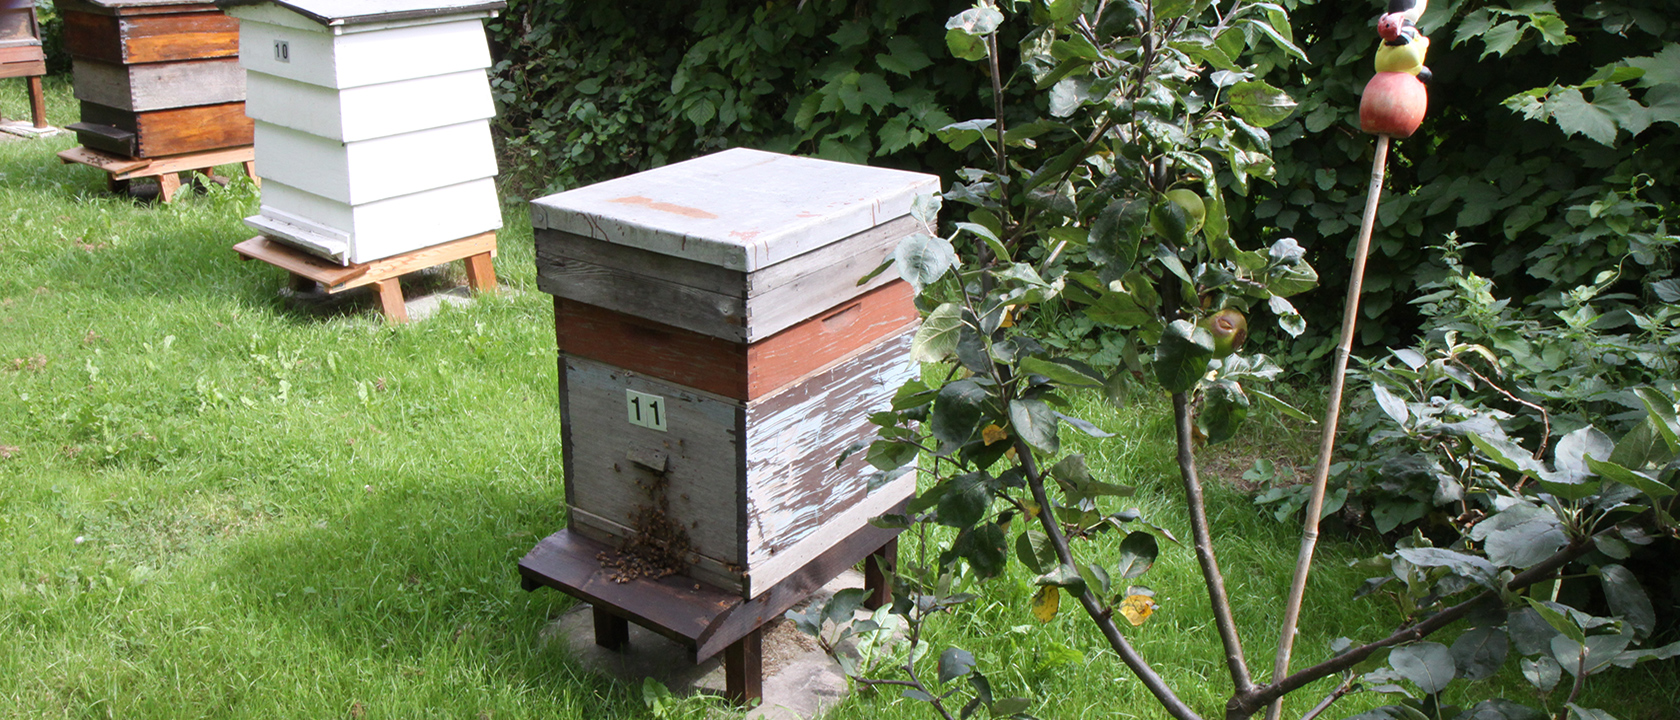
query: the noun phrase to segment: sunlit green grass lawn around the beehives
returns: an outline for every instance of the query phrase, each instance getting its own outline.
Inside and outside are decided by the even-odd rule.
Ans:
[[[74,123],[67,84],[49,91],[52,123]],[[27,114],[20,81],[0,81],[0,112]],[[521,205],[504,215],[504,292],[390,327],[371,299],[299,310],[279,270],[235,258],[249,183],[136,203],[59,164],[72,144],[0,141],[0,717],[648,715],[638,686],[541,641],[570,599],[519,589],[517,559],[563,524],[553,317]],[[460,270],[427,282],[450,279]],[[1164,403],[1084,404],[1121,433],[1084,443],[1092,467],[1139,485],[1146,517],[1188,537]],[[1312,446],[1300,428],[1255,430],[1247,451]],[[1263,676],[1297,539],[1216,480],[1210,502]],[[1300,663],[1396,623],[1347,599],[1362,579],[1347,561],[1374,549],[1320,545]],[[1136,643],[1221,715],[1189,549],[1166,545],[1146,579],[1163,608]],[[988,584],[932,641],[973,650],[1000,697],[1040,698],[1045,718],[1163,717],[1084,618],[1040,626],[1030,594],[1020,571]],[[1672,713],[1672,663],[1603,678],[1586,705]],[[1510,676],[1472,691],[1527,693]],[[864,693],[835,717],[931,715]]]

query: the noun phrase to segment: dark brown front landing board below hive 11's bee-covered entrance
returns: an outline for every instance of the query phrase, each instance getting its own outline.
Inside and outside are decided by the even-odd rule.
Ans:
[[[682,576],[613,582],[596,561],[610,550],[570,529],[559,530],[519,561],[519,574],[585,603],[613,608],[630,621],[690,648],[724,611],[741,604],[741,597]]]

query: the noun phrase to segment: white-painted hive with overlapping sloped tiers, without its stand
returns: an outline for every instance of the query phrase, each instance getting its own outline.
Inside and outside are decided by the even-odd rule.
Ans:
[[[346,265],[501,228],[482,18],[502,2],[220,5],[257,123],[247,225]]]

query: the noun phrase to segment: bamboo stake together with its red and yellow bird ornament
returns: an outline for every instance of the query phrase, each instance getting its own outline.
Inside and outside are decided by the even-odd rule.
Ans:
[[[1430,106],[1426,82],[1430,69],[1423,57],[1430,52],[1430,39],[1418,32],[1418,18],[1428,0],[1389,0],[1388,12],[1376,20],[1381,42],[1376,49],[1376,76],[1359,97],[1359,129],[1376,136],[1376,153],[1371,158],[1371,188],[1366,193],[1364,217],[1359,222],[1359,238],[1354,243],[1354,263],[1347,277],[1347,302],[1342,309],[1341,344],[1336,347],[1336,371],[1331,376],[1331,394],[1326,398],[1324,436],[1319,441],[1319,458],[1312,473],[1312,493],[1307,497],[1307,520],[1300,535],[1300,554],[1295,557],[1295,577],[1289,586],[1284,606],[1284,626],[1277,641],[1277,658],[1272,678],[1289,675],[1289,656],[1295,644],[1295,626],[1300,621],[1300,603],[1307,592],[1307,576],[1312,572],[1312,552],[1319,542],[1319,517],[1324,514],[1324,495],[1331,478],[1331,458],[1336,451],[1336,428],[1342,413],[1342,388],[1347,378],[1347,357],[1352,354],[1354,329],[1359,322],[1359,294],[1364,289],[1364,267],[1371,253],[1371,232],[1376,225],[1376,206],[1383,195],[1383,176],[1388,170],[1388,144],[1391,138],[1411,138],[1423,124]],[[1267,720],[1278,720],[1284,700],[1267,708]]]

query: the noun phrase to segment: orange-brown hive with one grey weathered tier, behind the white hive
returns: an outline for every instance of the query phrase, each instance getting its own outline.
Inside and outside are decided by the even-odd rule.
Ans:
[[[87,148],[165,158],[250,144],[239,23],[208,0],[59,0]]]

